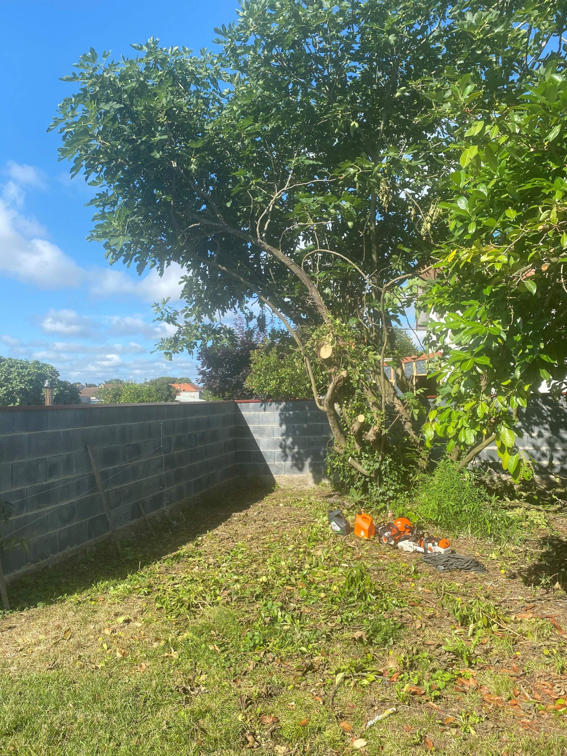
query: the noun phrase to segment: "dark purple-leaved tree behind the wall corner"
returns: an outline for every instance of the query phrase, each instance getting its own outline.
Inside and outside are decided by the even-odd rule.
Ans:
[[[246,328],[237,318],[233,336],[226,344],[205,345],[199,350],[200,368],[197,370],[209,399],[253,399],[256,394],[246,386],[250,372],[250,357],[264,339],[257,329]]]

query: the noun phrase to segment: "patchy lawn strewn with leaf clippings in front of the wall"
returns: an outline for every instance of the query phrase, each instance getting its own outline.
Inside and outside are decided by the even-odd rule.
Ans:
[[[488,577],[337,537],[328,494],[218,494],[11,585],[0,754],[561,754],[565,594],[480,541]]]

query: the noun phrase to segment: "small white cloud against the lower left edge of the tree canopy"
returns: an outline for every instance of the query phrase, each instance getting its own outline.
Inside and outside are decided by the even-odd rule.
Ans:
[[[137,296],[144,302],[156,302],[160,299],[171,297],[178,300],[181,297],[182,285],[179,279],[187,271],[172,262],[160,276],[156,268],[152,268],[141,278],[133,278],[114,268],[101,268],[97,271],[96,279],[91,283],[91,294],[96,297],[124,296],[129,294]]]

